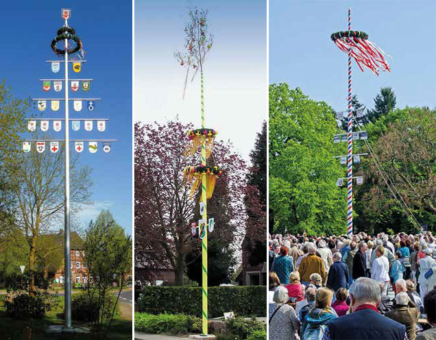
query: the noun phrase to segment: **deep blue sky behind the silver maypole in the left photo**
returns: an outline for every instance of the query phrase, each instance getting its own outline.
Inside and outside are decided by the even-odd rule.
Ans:
[[[132,5],[130,1],[23,1],[2,3],[0,29],[1,78],[6,80],[16,97],[64,97],[51,89],[43,91],[41,78],[63,78],[60,72],[51,72],[45,60],[56,60],[50,43],[62,27],[61,8],[71,8],[69,25],[82,39],[86,62],[80,73],[69,77],[93,78],[88,93],[79,92],[73,97],[97,97],[101,101],[93,113],[86,108],[73,110],[71,118],[108,118],[105,132],[71,132],[70,138],[117,138],[110,154],[100,149],[97,154],[87,150],[80,154],[80,162],[93,167],[94,186],[91,189],[93,206],[85,206],[80,221],[97,217],[101,208],[109,208],[114,218],[132,234]],[[51,84],[53,86],[53,83]],[[64,84],[62,84],[64,87]],[[48,104],[48,103],[47,103]],[[85,103],[83,103],[85,104]],[[32,111],[35,112],[35,111]],[[38,112],[36,110],[36,112]],[[43,117],[63,118],[64,106],[53,112],[47,108]],[[83,128],[83,125],[82,125]],[[51,129],[51,132],[53,130]],[[64,130],[53,132],[63,138]],[[71,143],[71,147],[73,147]],[[46,145],[47,147],[47,145]],[[47,152],[47,150],[46,150]],[[72,151],[75,152],[75,151]]]

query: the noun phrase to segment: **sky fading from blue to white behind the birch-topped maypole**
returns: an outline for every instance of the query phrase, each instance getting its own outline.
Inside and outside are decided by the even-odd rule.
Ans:
[[[186,69],[173,57],[183,47],[193,6],[209,10],[214,35],[204,66],[206,127],[248,159],[268,112],[266,0],[136,1],[135,120],[162,122],[178,114],[200,126],[199,75],[182,100]]]

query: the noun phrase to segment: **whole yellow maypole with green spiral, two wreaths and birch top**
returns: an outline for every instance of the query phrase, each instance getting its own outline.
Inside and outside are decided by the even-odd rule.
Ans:
[[[200,147],[202,162],[198,167],[185,167],[184,181],[193,181],[191,198],[197,192],[199,186],[202,186],[199,204],[199,213],[202,219],[198,221],[197,227],[193,226],[192,232],[193,236],[198,235],[202,240],[202,335],[199,335],[202,339],[214,337],[213,335],[208,335],[208,231],[212,232],[214,222],[213,219],[208,221],[207,200],[212,196],[215,181],[221,174],[221,169],[217,165],[213,167],[207,165],[207,160],[212,153],[214,138],[217,135],[215,130],[205,127],[203,66],[206,54],[210,51],[213,44],[213,37],[208,34],[207,14],[207,10],[198,10],[197,8],[189,11],[191,22],[186,23],[184,28],[186,33],[186,52],[177,51],[174,53],[180,65],[187,68],[184,90],[186,90],[189,71],[192,70],[194,72],[192,80],[197,71],[199,71],[201,78],[202,128],[188,132],[191,144],[186,148],[185,154],[186,156],[193,156],[198,147]],[[195,338],[197,336],[191,337]]]

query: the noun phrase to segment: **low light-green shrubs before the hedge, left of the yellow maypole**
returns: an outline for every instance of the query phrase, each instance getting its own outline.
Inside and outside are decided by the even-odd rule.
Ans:
[[[201,319],[182,314],[135,313],[135,329],[151,334],[201,332]]]

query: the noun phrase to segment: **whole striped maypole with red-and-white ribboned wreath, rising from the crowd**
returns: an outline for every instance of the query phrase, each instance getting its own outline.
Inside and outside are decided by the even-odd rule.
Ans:
[[[353,139],[366,139],[366,132],[357,132],[353,134],[353,110],[352,110],[352,66],[351,59],[357,63],[359,69],[363,71],[364,66],[372,71],[372,73],[378,75],[379,71],[391,71],[389,64],[385,60],[385,52],[377,47],[374,42],[367,40],[368,35],[363,31],[351,30],[351,7],[348,8],[348,30],[335,32],[330,38],[335,42],[335,45],[341,49],[341,51],[348,53],[348,124],[347,124],[347,235],[350,236],[353,233]],[[337,134],[334,137],[335,143],[339,142],[339,136]],[[360,156],[360,155],[359,155]],[[360,158],[359,158],[360,161]],[[362,178],[356,178],[361,184]],[[342,185],[342,179],[339,178],[337,182],[338,186]]]

